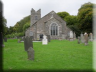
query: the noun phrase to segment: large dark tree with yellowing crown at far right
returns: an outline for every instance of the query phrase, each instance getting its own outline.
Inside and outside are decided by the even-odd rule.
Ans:
[[[78,10],[79,28],[84,33],[92,32],[93,4],[88,2]]]

